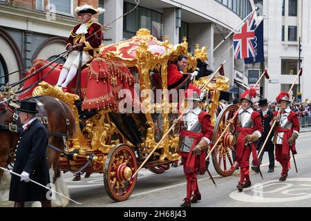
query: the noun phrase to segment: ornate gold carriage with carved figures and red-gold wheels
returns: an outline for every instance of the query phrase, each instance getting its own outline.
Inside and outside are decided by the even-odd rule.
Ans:
[[[135,77],[135,83],[139,84],[141,91],[146,89],[155,90],[156,83],[151,80],[150,72],[160,74],[160,86],[162,91],[167,91],[167,66],[170,61],[176,60],[181,54],[187,55],[189,63],[187,73],[196,69],[197,59],[205,61],[207,59],[207,47],[196,46],[194,55],[187,51],[187,39],[184,38],[182,44],[173,45],[168,37],[165,41],[158,41],[156,37],[150,35],[147,29],[140,29],[137,35],[127,41],[120,41],[117,44],[102,48],[102,57],[93,59],[92,64],[122,64],[122,67],[129,68],[131,75]],[[115,73],[121,72],[117,66],[113,67],[113,73],[109,78],[110,86],[115,86],[120,76]],[[96,73],[95,73],[96,74]],[[137,74],[137,75],[136,75]],[[195,81],[196,86],[202,87],[207,82],[208,77],[203,77]],[[211,102],[202,102],[202,108],[212,116],[212,123],[216,125],[215,138],[219,131],[227,124],[227,112],[222,111],[220,121],[217,121],[220,111],[225,108],[219,100],[220,90],[229,88],[229,79],[226,77],[216,77],[214,82],[209,83],[205,88]],[[81,171],[91,173],[104,173],[104,186],[108,195],[116,201],[129,198],[135,187],[137,176],[132,177],[138,166],[151,153],[153,148],[167,133],[172,125],[173,119],[178,117],[178,103],[169,102],[166,93],[160,94],[159,102],[151,102],[151,96],[140,97],[140,102],[144,102],[147,112],[120,113],[113,108],[106,106],[98,108],[97,111],[87,119],[83,119],[79,114],[75,101],[79,100],[78,95],[63,93],[57,87],[50,86],[46,82],[41,82],[32,93],[33,96],[49,95],[66,102],[73,111],[76,119],[75,134],[67,141],[66,155],[72,155],[70,159],[62,155],[60,166],[62,171]],[[217,122],[216,122],[217,121]],[[226,138],[230,140],[229,138]],[[156,152],[153,153],[144,168],[153,173],[163,173],[169,169],[169,164],[179,160],[176,153],[178,136],[168,135],[164,142],[160,144]],[[220,146],[213,155],[213,162],[216,171],[221,175],[230,175],[232,169],[222,169],[219,162],[228,156],[230,146],[227,144]],[[218,151],[218,152],[217,152]],[[229,159],[229,158],[228,158]],[[88,164],[86,164],[88,162]]]

